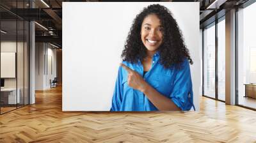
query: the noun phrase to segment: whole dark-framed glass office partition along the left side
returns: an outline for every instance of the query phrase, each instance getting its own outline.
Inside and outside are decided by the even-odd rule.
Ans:
[[[28,8],[29,1],[1,1]],[[0,114],[29,104],[29,22],[0,8]]]

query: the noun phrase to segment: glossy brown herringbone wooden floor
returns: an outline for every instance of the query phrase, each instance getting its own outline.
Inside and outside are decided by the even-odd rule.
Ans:
[[[201,98],[200,112],[62,112],[61,87],[0,116],[0,142],[256,142],[256,112]]]

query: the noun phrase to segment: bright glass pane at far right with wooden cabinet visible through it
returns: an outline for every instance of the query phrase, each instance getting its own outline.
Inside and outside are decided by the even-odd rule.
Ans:
[[[238,105],[256,109],[256,3],[237,11]]]

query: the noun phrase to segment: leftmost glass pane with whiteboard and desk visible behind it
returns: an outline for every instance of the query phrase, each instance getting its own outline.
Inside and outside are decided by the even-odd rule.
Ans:
[[[4,32],[3,32],[4,31]],[[1,114],[17,108],[17,21],[1,21]],[[18,94],[18,96],[17,96]]]

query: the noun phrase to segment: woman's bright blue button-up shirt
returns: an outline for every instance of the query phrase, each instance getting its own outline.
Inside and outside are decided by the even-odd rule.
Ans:
[[[143,64],[132,64],[123,61],[123,64],[143,76]],[[164,68],[159,63],[158,52],[152,58],[152,66],[145,73],[144,80],[159,93],[170,98],[181,110],[190,110],[193,105],[193,90],[188,59],[185,59],[180,68]],[[119,67],[115,90],[112,98],[111,111],[151,111],[158,110],[141,91],[129,87],[127,71]]]

